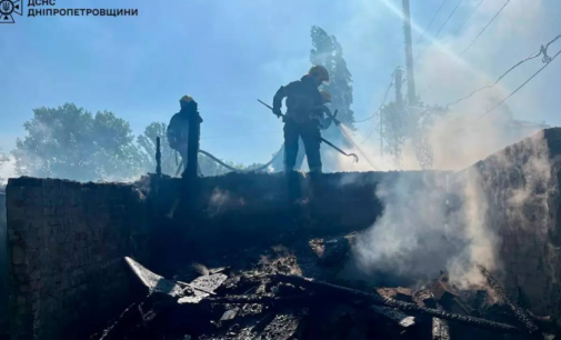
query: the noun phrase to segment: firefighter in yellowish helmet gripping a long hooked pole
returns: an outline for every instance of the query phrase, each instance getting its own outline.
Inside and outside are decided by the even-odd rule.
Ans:
[[[284,114],[284,171],[294,170],[298,156],[298,140],[302,138],[308,157],[308,168],[312,173],[321,173],[320,122],[314,117],[323,100],[318,88],[329,81],[324,67],[313,66],[300,80],[281,87],[273,98],[273,113],[280,117],[282,100],[287,98]]]

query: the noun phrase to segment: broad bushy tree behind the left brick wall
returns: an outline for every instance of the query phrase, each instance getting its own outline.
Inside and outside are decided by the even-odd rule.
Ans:
[[[79,181],[129,180],[140,174],[129,123],[108,111],[92,114],[73,103],[38,108],[12,151],[19,174]]]

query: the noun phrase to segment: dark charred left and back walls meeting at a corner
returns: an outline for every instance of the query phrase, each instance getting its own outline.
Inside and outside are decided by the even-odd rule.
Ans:
[[[324,174],[321,186],[298,174],[298,208],[288,204],[282,174],[232,173],[198,186],[151,178],[138,187],[10,179],[11,337],[80,339],[106,326],[132,298],[124,256],[172,266],[274,242],[301,226],[311,234],[368,228],[382,209],[381,176],[398,173]]]

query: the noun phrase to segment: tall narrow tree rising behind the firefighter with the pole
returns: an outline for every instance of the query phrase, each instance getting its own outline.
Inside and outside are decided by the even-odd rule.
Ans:
[[[338,119],[354,129],[352,104],[352,74],[343,59],[343,49],[335,36],[329,36],[322,28],[312,26],[313,49],[310,52],[312,64],[321,64],[329,71],[330,82],[323,88],[331,93],[332,111],[338,110]],[[330,130],[337,130],[331,127]]]

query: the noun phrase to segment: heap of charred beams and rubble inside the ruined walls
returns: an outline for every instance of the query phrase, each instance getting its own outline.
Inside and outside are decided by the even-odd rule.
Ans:
[[[314,239],[307,253],[272,247],[250,266],[224,257],[232,267],[172,279],[126,258],[146,296],[91,339],[554,339],[551,318],[518,306],[483,267],[489,286],[470,290],[445,273],[408,288],[343,280],[352,239]]]

